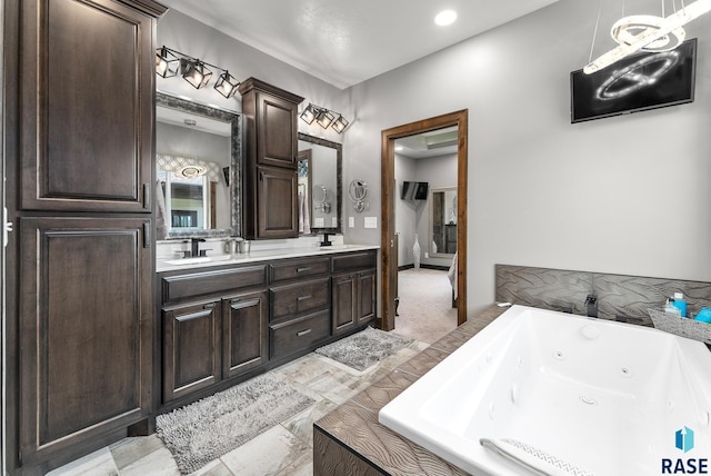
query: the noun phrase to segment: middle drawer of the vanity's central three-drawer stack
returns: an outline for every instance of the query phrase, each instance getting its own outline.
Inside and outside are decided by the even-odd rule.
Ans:
[[[331,278],[313,279],[269,289],[270,321],[328,309],[331,303]]]

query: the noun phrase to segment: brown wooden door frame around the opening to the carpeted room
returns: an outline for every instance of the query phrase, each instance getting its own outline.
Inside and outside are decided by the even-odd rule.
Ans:
[[[457,127],[457,325],[467,321],[467,151],[469,110],[437,116],[381,132],[381,282],[382,316],[380,328],[395,327],[395,289],[398,279],[398,255],[395,247],[394,179],[395,140],[447,127]]]

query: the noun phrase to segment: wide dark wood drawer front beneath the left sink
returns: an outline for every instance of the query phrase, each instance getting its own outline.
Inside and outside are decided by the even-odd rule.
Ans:
[[[267,286],[266,269],[266,265],[257,265],[219,271],[164,276],[161,279],[163,303],[252,286]]]

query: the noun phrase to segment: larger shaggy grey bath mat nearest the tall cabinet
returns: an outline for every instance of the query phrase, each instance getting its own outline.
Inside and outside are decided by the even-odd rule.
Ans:
[[[286,381],[264,374],[159,415],[157,433],[180,473],[190,474],[314,403]]]

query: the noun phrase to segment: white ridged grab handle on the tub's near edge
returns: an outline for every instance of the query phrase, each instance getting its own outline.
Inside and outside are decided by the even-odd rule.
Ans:
[[[511,438],[480,438],[479,443],[487,449],[514,463],[537,476],[593,476],[592,473],[564,462],[527,443]]]

